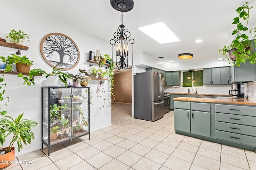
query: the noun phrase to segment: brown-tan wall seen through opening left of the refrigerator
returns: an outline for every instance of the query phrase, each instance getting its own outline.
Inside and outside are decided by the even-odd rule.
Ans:
[[[132,103],[132,70],[114,75],[114,102]]]

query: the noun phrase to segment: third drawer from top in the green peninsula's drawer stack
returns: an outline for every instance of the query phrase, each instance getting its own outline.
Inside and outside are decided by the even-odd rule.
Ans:
[[[252,126],[216,121],[215,128],[221,131],[228,131],[232,133],[239,133],[242,135],[250,135],[250,136],[256,137],[256,127],[252,127]]]

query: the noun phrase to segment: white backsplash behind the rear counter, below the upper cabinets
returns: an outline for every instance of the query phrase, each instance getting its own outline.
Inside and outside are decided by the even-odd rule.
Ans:
[[[164,92],[188,93],[188,88],[190,89],[190,93],[192,93],[192,91],[195,93],[197,90],[198,94],[229,94],[231,85],[210,85],[197,88],[181,86],[179,88],[174,88],[173,86],[164,86]]]

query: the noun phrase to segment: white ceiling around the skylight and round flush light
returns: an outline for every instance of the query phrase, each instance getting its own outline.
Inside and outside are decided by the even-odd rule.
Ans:
[[[110,0],[4,0],[42,16],[74,25],[86,33],[110,41],[121,24],[121,12]],[[235,10],[246,0],[134,0],[134,8],[124,12],[123,23],[135,43],[134,51],[144,51],[164,61],[184,62],[180,53],[192,53],[189,61],[218,60],[218,50],[228,45],[235,25]],[[249,0],[251,27],[256,25],[256,0]],[[163,21],[180,39],[159,44],[138,27]],[[196,43],[202,39],[201,43]]]

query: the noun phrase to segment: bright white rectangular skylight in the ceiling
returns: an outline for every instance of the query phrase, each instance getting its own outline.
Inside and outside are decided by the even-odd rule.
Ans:
[[[163,22],[139,27],[139,29],[160,44],[180,41]]]

